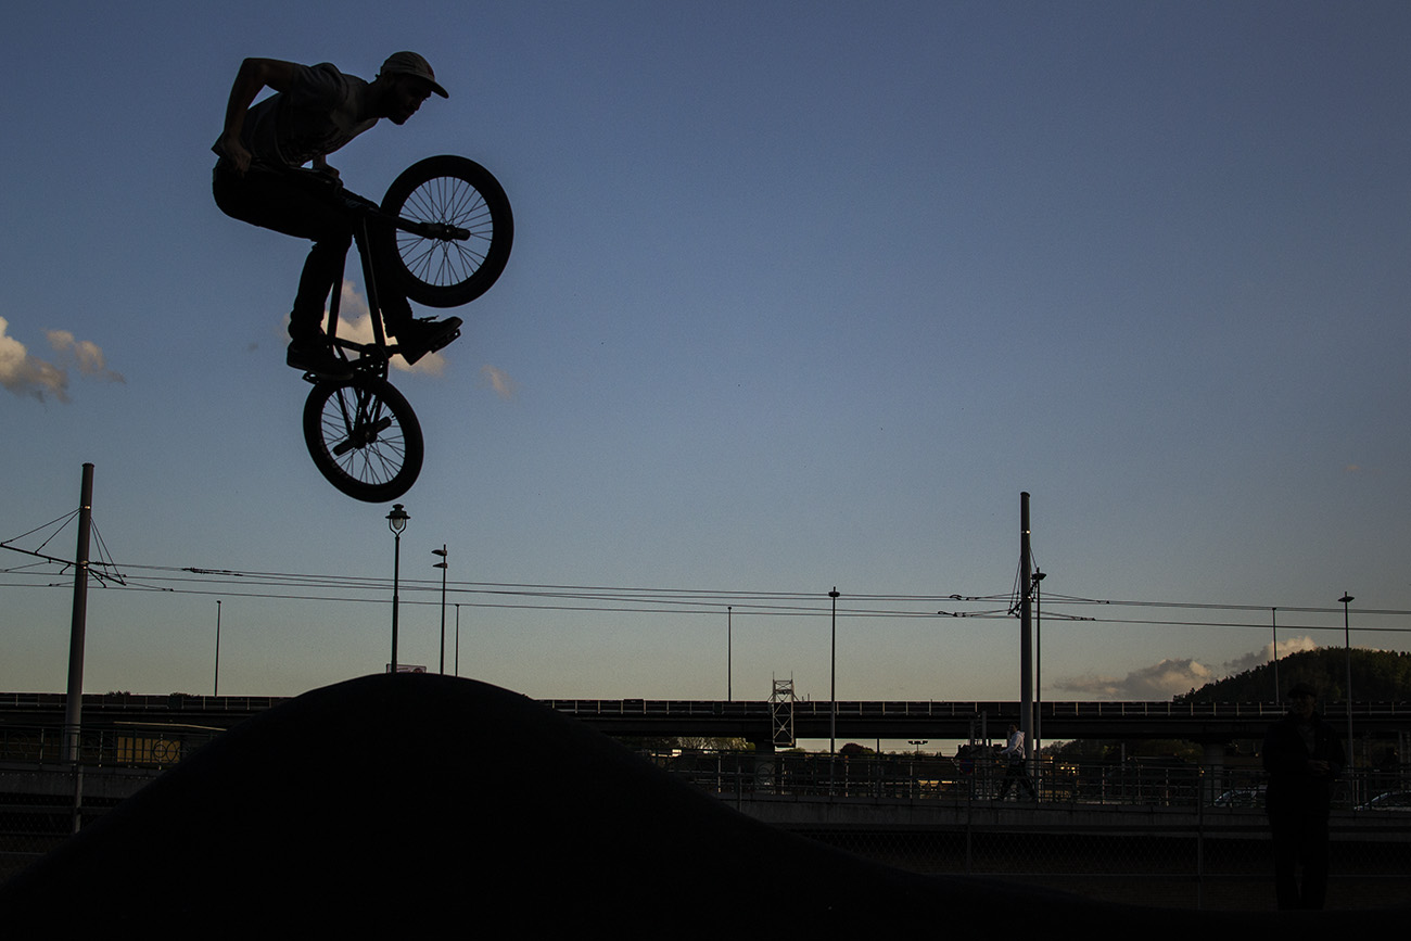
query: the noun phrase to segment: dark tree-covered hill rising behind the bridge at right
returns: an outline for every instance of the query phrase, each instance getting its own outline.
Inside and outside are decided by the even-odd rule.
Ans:
[[[1346,698],[1348,659],[1342,648],[1319,648],[1290,653],[1278,660],[1278,691],[1270,663],[1236,676],[1206,683],[1177,696],[1177,703],[1271,703],[1283,698],[1294,683],[1309,683],[1319,703]],[[1352,650],[1352,697],[1359,703],[1411,700],[1411,653],[1395,650]]]

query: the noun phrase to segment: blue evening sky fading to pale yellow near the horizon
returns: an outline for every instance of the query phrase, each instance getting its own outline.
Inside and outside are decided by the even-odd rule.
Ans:
[[[461,673],[531,696],[720,697],[735,604],[737,698],[773,676],[827,698],[837,585],[840,698],[1013,698],[1013,619],[858,612],[1006,595],[1022,491],[1050,573],[1046,698],[1184,691],[1246,666],[1271,619],[1340,643],[1343,591],[1355,628],[1408,626],[1359,614],[1411,609],[1404,4],[59,1],[7,20],[0,539],[73,509],[96,464],[131,587],[90,595],[87,691],[209,691],[216,598],[223,693],[387,662],[388,508],[317,475],[284,365],[305,245],[210,199],[246,55],[371,78],[420,51],[452,97],[330,162],[380,196],[464,154],[514,203],[509,267],[457,310],[463,337],[394,377],[428,439],[402,660],[436,663],[444,543],[452,581],[477,583],[453,584]],[[0,556],[0,688],[62,690],[65,577]],[[188,567],[343,581],[168,580]],[[508,584],[649,602],[481,590]],[[762,593],[801,611],[763,614]],[[605,607],[649,611],[580,609]]]

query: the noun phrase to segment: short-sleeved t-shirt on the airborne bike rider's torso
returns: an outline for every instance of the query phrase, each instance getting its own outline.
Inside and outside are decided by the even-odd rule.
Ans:
[[[289,87],[250,107],[240,140],[257,164],[302,166],[377,124],[364,117],[367,87],[330,62],[296,66]]]

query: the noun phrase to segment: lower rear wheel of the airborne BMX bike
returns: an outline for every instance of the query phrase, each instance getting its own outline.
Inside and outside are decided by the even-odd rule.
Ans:
[[[368,504],[409,491],[426,453],[411,403],[373,375],[316,382],[303,403],[303,442],[330,484]]]

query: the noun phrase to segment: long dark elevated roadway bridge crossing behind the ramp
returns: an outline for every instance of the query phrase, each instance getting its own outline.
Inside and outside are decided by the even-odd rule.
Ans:
[[[86,694],[85,727],[226,729],[284,701],[250,696]],[[1019,703],[991,701],[794,701],[765,700],[540,700],[607,735],[744,738],[768,748],[787,721],[794,739],[969,739],[1002,738],[1019,718]],[[62,693],[0,693],[0,725],[59,728]],[[1346,707],[1326,704],[1329,721],[1345,721]],[[1054,701],[1037,707],[1046,741],[1095,738],[1178,738],[1216,743],[1263,738],[1284,715],[1277,703],[1099,703]],[[1411,729],[1411,703],[1353,703],[1355,734],[1381,736]],[[786,736],[785,736],[786,738]]]

